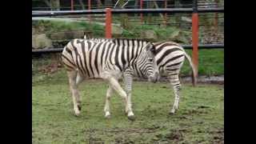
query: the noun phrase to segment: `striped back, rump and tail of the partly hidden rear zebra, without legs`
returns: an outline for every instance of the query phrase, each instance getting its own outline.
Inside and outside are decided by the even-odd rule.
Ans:
[[[94,39],[94,38],[90,38]],[[102,41],[109,41],[118,43],[119,45],[132,45],[132,46],[143,46],[145,45],[145,41],[143,39],[138,38],[97,38],[96,41],[102,42]],[[134,42],[142,42],[142,45],[135,45]],[[193,62],[190,61],[190,56],[186,54],[186,51],[183,49],[182,46],[180,46],[177,42],[172,41],[162,41],[162,42],[154,42],[153,45],[156,49],[156,61],[158,65],[158,70],[162,73],[179,73],[182,64],[184,62],[184,58],[186,58],[189,63],[190,67],[192,68],[192,74],[193,74],[193,84],[195,84],[195,78],[196,74],[194,69]],[[134,69],[134,75],[135,76],[141,76],[138,69],[136,67],[133,67]]]

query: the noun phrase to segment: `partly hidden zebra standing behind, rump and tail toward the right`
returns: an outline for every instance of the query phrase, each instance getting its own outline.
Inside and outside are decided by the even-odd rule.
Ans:
[[[85,37],[86,38],[86,35]],[[134,42],[134,39],[126,39],[126,38],[88,38],[90,40],[93,40],[94,42],[113,42],[118,43],[119,45],[129,45],[133,47],[139,47],[144,46],[146,44],[146,41],[141,40],[141,45],[138,45],[136,42]],[[138,40],[136,40],[138,41]],[[192,82],[193,86],[196,83],[196,77],[195,77],[195,69],[193,62],[191,62],[191,58],[188,54],[186,54],[186,51],[182,48],[182,46],[178,45],[176,42],[154,42],[153,45],[156,49],[156,55],[155,59],[157,61],[158,70],[160,72],[160,75],[167,74],[167,78],[170,82],[170,84],[173,86],[174,89],[174,105],[170,109],[170,114],[174,114],[176,110],[178,110],[178,103],[180,98],[180,90],[181,90],[181,82],[179,81],[178,74],[182,68],[183,62],[185,58],[189,61],[190,66],[192,68]],[[138,70],[134,69],[134,74],[140,76]],[[125,86],[127,90],[131,90],[132,85],[132,76],[131,73],[128,71],[128,73],[124,73],[124,82],[128,83]],[[131,97],[131,94],[128,94],[128,98]]]

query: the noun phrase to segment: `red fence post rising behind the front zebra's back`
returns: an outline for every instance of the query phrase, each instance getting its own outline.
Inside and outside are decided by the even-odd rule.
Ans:
[[[111,23],[112,23],[112,14],[111,9],[106,8],[106,26],[105,26],[105,37],[112,38],[111,35]]]

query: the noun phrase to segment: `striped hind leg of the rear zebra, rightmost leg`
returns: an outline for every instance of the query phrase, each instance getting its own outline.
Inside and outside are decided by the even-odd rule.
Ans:
[[[178,74],[170,75],[170,84],[173,86],[174,89],[174,106],[170,110],[170,114],[174,114],[176,110],[178,110],[178,102],[180,98],[179,91],[181,90],[181,82],[179,81]]]

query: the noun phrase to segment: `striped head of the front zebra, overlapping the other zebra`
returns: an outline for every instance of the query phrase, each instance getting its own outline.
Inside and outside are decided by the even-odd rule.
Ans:
[[[137,69],[142,77],[148,78],[149,82],[157,82],[159,78],[159,71],[157,62],[154,58],[156,50],[151,42],[142,48],[142,53],[138,57]]]

